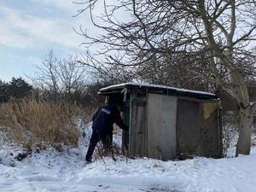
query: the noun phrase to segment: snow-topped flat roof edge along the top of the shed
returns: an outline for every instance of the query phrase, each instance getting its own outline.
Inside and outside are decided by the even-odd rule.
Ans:
[[[201,90],[187,90],[187,89],[180,89],[180,88],[170,87],[170,86],[165,86],[160,84],[145,84],[145,83],[141,84],[141,83],[134,83],[134,82],[128,82],[125,84],[113,84],[111,86],[102,88],[99,91],[99,93],[104,94],[109,90],[119,90],[119,89],[124,89],[129,87],[149,88],[152,90],[168,90],[168,92],[170,91],[171,93],[176,92],[176,93],[181,93],[183,95],[188,94],[191,96],[207,96],[211,98],[216,98],[215,94],[212,94],[206,91],[201,91]]]

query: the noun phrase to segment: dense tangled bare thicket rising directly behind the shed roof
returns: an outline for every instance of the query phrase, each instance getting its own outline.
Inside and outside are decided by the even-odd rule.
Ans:
[[[167,57],[163,55],[160,58],[153,57],[140,65],[137,70],[137,79],[152,84],[214,91],[216,84],[206,80],[208,75],[206,64],[198,57],[195,58],[195,55],[184,53],[172,54]]]

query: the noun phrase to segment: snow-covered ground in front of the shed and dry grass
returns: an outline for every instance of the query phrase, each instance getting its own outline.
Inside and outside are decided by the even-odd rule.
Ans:
[[[86,132],[90,128],[86,127]],[[182,161],[99,158],[85,165],[88,137],[78,148],[49,148],[24,160],[19,148],[0,138],[0,191],[63,192],[253,192],[256,191],[256,148],[249,156]],[[114,138],[120,141],[120,136]]]

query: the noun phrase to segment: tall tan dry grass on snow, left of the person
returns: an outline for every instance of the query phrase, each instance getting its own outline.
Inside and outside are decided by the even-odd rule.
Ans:
[[[84,116],[75,104],[41,102],[34,98],[0,105],[0,125],[7,127],[18,143],[76,144],[79,131],[75,118]]]

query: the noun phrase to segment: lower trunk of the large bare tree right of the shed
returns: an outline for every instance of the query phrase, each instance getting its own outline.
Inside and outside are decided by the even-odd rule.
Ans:
[[[251,131],[253,127],[253,108],[240,109],[239,138],[236,144],[236,157],[238,154],[250,154],[251,150]]]

